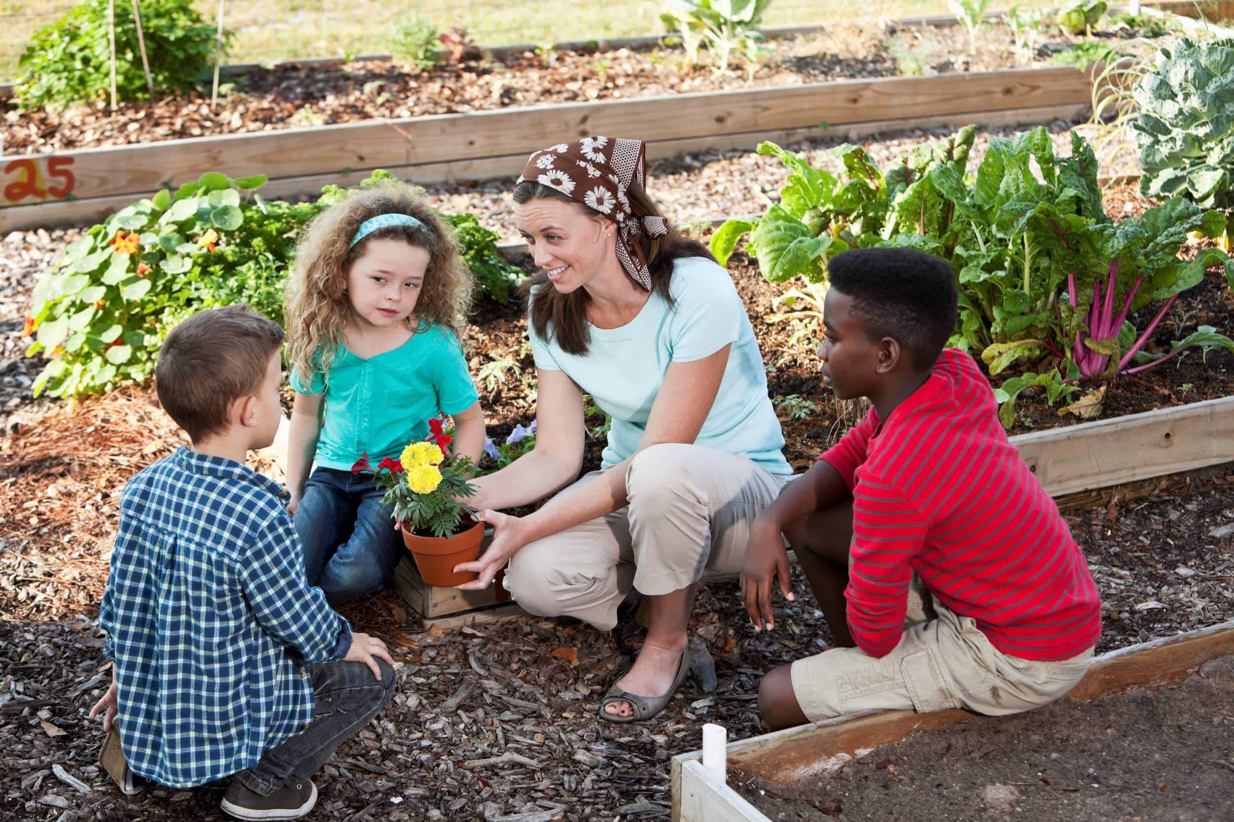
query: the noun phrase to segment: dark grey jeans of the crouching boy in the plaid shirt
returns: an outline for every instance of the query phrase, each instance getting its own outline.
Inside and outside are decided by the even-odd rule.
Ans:
[[[244,787],[269,796],[290,779],[308,779],[334,755],[344,739],[369,723],[394,697],[394,669],[376,660],[381,681],[364,663],[332,662],[310,665],[313,717],[304,733],[270,748],[252,768],[236,774]]]

